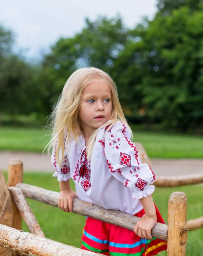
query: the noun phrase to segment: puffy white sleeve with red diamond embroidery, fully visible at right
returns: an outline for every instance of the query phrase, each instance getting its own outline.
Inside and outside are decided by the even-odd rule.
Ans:
[[[116,179],[132,191],[133,198],[144,198],[154,192],[155,186],[150,184],[154,182],[155,175],[148,164],[141,163],[137,148],[130,141],[130,131],[125,124],[116,122],[106,132],[103,146],[108,169]]]

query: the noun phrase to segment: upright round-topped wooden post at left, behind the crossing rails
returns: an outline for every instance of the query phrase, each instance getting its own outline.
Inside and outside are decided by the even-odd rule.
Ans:
[[[17,183],[23,182],[23,162],[19,159],[11,159],[8,163],[8,186],[15,186]],[[13,206],[13,228],[22,230],[22,217],[17,209],[14,200],[12,199]],[[13,252],[13,256],[17,255],[17,252]]]

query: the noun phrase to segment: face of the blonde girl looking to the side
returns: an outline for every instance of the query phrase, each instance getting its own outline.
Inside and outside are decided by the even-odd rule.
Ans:
[[[85,134],[91,135],[110,119],[112,111],[111,89],[105,81],[96,80],[82,92],[79,118]]]

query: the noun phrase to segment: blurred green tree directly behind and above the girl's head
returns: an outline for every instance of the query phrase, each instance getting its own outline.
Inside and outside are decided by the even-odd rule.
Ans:
[[[120,17],[99,17],[95,22],[86,19],[82,32],[73,38],[59,39],[42,62],[40,108],[50,113],[50,105],[76,69],[93,66],[109,72],[126,41],[127,29]]]

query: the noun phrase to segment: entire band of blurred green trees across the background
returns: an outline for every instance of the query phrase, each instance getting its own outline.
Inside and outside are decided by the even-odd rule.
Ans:
[[[86,19],[38,67],[12,54],[12,33],[0,27],[1,113],[49,115],[68,77],[93,66],[116,81],[129,121],[202,134],[202,10],[200,0],[159,0],[154,19],[131,30],[119,16]]]

